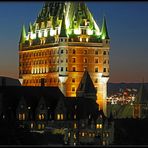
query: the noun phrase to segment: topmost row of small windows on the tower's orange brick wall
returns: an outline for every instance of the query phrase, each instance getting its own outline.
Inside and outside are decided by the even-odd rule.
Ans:
[[[34,57],[36,57],[36,56],[47,56],[47,55],[63,54],[63,53],[67,54],[68,50],[60,49],[60,50],[50,50],[50,51],[46,51],[46,52],[24,53],[24,54],[20,55],[20,58],[29,58],[31,56],[34,56]],[[76,50],[72,49],[72,53],[76,54]],[[88,53],[88,50],[84,49],[84,54],[87,54],[87,53]],[[94,53],[96,55],[98,55],[98,54],[102,54],[102,51],[95,50]],[[108,51],[103,51],[103,55],[109,55],[109,52]]]

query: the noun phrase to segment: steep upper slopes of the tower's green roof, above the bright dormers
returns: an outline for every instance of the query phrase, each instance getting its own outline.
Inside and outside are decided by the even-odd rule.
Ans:
[[[94,34],[100,36],[100,29],[96,24],[91,12],[84,2],[45,2],[39,12],[36,23],[51,21],[52,26],[59,26],[64,15],[66,34],[71,35],[74,29],[84,26],[87,22],[87,28],[94,27]],[[62,21],[63,22],[63,21]],[[54,27],[53,27],[54,28]]]

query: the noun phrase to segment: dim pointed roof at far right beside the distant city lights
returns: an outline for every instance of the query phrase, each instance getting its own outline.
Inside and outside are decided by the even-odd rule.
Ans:
[[[146,90],[144,83],[142,83],[139,88],[139,92],[135,99],[135,103],[148,103],[148,91]]]

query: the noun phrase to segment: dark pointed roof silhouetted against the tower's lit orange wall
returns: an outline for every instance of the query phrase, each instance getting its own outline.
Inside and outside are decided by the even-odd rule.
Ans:
[[[83,77],[78,86],[77,93],[79,92],[96,94],[96,89],[87,70],[84,72]]]

